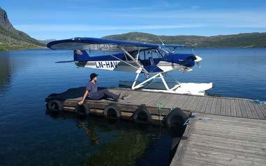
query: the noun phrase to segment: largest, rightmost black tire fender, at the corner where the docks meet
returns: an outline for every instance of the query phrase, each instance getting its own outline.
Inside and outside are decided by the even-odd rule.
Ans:
[[[188,116],[182,112],[179,107],[176,107],[171,110],[167,116],[165,116],[164,122],[168,128],[172,128],[175,126],[183,126],[187,118]]]

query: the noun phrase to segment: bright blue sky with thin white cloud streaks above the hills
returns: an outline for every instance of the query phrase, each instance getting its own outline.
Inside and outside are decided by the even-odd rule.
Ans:
[[[266,32],[266,1],[1,0],[16,29],[37,39]]]

